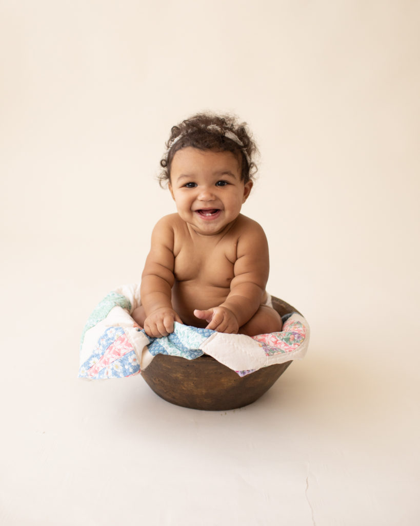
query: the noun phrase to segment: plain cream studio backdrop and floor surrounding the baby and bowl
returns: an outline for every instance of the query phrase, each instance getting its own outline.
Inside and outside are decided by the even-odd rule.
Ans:
[[[414,526],[416,2],[0,2],[5,526]],[[247,120],[243,211],[311,345],[260,400],[171,406],[77,379],[80,333],[140,279],[170,127]]]

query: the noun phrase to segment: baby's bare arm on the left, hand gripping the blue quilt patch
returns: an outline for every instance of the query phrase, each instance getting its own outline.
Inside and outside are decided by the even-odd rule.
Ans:
[[[160,338],[173,332],[174,321],[182,323],[171,302],[175,281],[174,232],[167,216],[154,227],[151,245],[142,274],[140,298],[146,316],[144,330],[149,336]]]

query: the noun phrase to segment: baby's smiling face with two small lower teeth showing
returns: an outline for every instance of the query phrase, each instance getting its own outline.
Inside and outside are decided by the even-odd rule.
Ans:
[[[169,189],[178,214],[198,234],[222,232],[239,215],[253,186],[240,179],[230,151],[178,150],[172,159]]]

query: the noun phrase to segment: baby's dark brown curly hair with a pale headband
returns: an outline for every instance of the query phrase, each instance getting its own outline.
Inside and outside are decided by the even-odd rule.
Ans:
[[[237,123],[230,115],[199,113],[171,128],[166,143],[166,154],[161,160],[163,168],[159,183],[163,187],[171,180],[171,163],[175,153],[192,146],[200,150],[232,151],[240,161],[241,180],[247,183],[256,174],[253,156],[258,153],[246,123]]]

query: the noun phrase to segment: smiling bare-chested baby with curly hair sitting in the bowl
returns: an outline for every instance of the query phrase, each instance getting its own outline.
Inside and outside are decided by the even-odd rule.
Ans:
[[[134,320],[151,337],[174,321],[256,336],[280,331],[265,290],[269,257],[264,230],[240,213],[255,169],[256,147],[244,124],[199,114],[171,130],[161,161],[177,213],[152,232]]]

